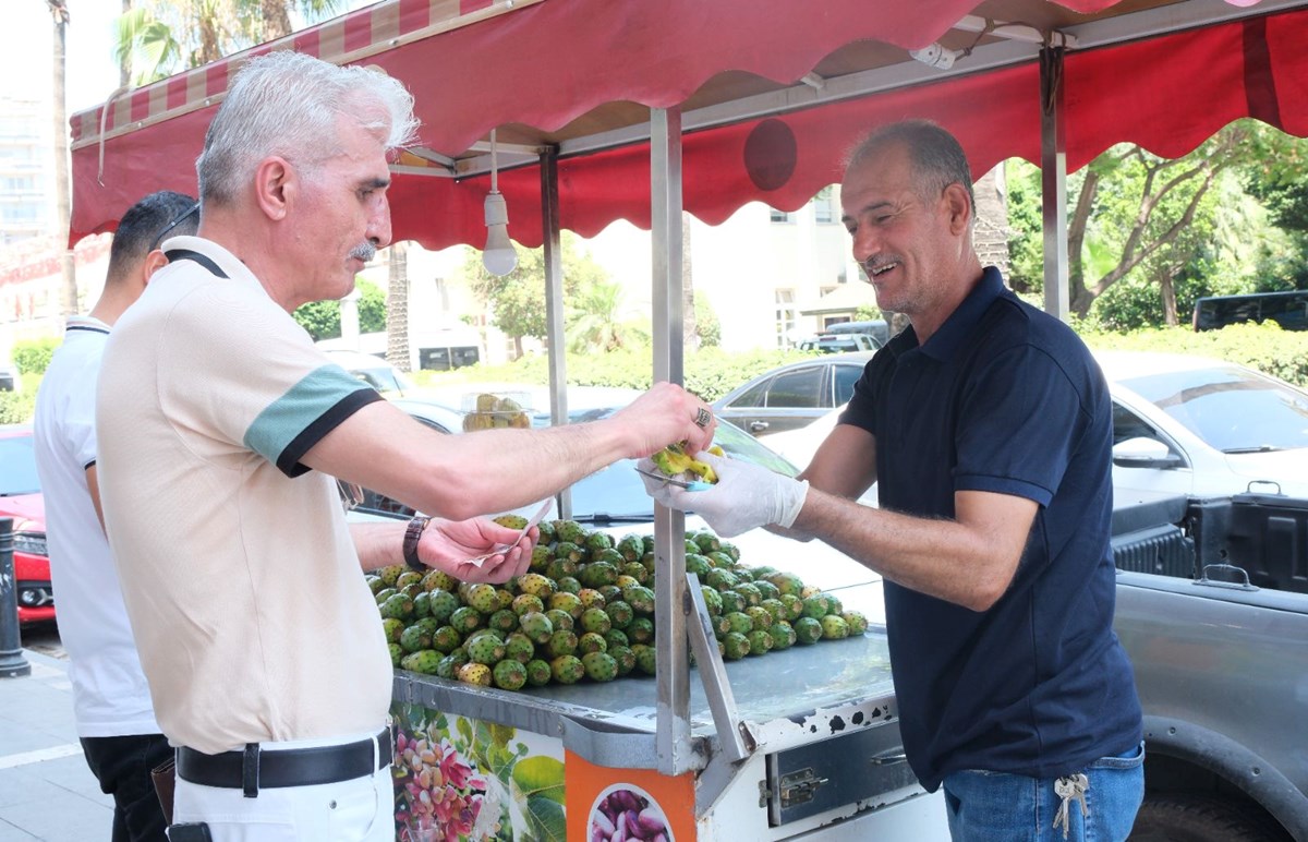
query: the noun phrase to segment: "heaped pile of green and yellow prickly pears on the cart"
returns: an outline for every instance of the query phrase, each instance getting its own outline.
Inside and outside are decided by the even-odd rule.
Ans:
[[[794,574],[742,564],[712,532],[687,533],[685,567],[700,577],[727,660],[867,630],[861,613]],[[368,583],[400,669],[505,690],[654,674],[653,536],[615,541],[577,521],[544,521],[530,571],[502,587],[403,564]]]

